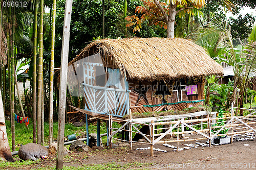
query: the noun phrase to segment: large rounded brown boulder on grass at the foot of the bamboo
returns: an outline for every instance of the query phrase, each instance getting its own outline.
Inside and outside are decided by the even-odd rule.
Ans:
[[[42,158],[42,156],[48,155],[49,150],[46,147],[36,143],[25,144],[18,150],[18,156],[23,160],[31,159],[35,161],[38,158]]]

